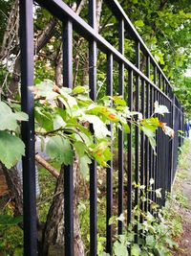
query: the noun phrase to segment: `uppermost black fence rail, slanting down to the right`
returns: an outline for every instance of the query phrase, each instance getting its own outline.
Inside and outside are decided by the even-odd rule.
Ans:
[[[124,12],[124,10],[120,6],[120,4],[117,2],[117,0],[105,0],[105,2],[107,4],[107,6],[110,8],[110,10],[116,15],[118,20],[119,19],[123,19],[124,20],[124,24],[128,28],[128,32],[130,32],[130,35],[132,35],[133,38],[135,38],[135,39],[137,39],[139,41],[141,51],[143,51],[144,54],[147,54],[151,58],[151,61],[153,62],[153,64],[155,64],[158,67],[159,72],[161,73],[161,75],[163,76],[165,81],[167,81],[168,85],[171,86],[170,82],[168,81],[168,79],[164,75],[163,71],[159,67],[158,62],[152,56],[151,52],[149,51],[149,49],[147,48],[147,46],[143,42],[141,36],[138,34],[138,31],[136,30],[136,28],[134,27],[133,23],[128,18],[127,14]]]

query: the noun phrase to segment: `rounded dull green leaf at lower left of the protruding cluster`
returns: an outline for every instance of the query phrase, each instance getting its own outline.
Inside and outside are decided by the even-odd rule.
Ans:
[[[74,151],[70,141],[59,135],[50,138],[46,147],[47,154],[60,163],[70,165],[73,163]]]

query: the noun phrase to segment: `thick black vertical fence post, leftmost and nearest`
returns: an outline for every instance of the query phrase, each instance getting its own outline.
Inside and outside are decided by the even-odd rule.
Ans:
[[[29,115],[22,122],[21,135],[26,146],[23,165],[24,255],[37,255],[36,194],[34,160],[33,19],[32,0],[20,0],[21,109]]]

